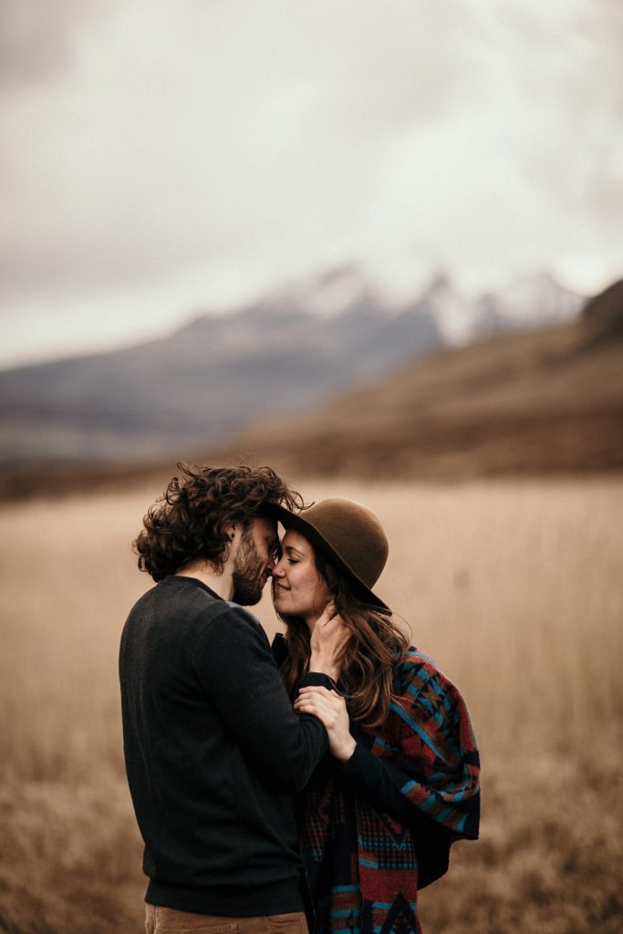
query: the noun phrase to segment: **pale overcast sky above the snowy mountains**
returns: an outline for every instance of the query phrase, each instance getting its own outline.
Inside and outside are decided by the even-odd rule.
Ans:
[[[0,365],[339,262],[623,275],[621,0],[5,0]]]

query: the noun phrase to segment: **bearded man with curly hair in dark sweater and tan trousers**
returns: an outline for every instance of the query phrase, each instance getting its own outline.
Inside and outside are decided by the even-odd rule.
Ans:
[[[278,553],[277,505],[299,494],[270,468],[182,469],[135,541],[156,587],[121,637],[124,753],[149,876],[147,929],[306,930],[292,794],[327,750],[298,715],[243,605]],[[339,636],[325,620],[302,684],[331,686]],[[267,921],[269,919],[269,921]]]

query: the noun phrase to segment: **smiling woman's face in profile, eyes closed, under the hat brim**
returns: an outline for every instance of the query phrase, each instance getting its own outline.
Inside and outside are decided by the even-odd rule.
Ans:
[[[300,532],[290,529],[281,542],[281,558],[273,568],[273,602],[283,616],[303,616],[310,629],[331,600],[319,573],[314,549]]]

